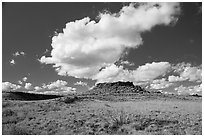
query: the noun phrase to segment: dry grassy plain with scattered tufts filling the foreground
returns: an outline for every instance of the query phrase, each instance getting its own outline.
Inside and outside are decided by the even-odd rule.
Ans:
[[[4,100],[4,135],[201,135],[198,97],[56,98]]]

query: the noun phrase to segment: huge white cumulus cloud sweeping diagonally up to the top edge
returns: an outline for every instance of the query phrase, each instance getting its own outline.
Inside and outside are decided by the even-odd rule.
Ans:
[[[138,48],[143,43],[141,33],[157,25],[175,23],[179,13],[179,3],[131,3],[119,13],[100,13],[98,22],[89,17],[68,22],[63,33],[52,38],[51,57],[42,56],[40,61],[53,64],[59,75],[76,78],[99,78],[100,81],[106,73],[106,77],[110,75],[110,80],[114,80],[114,75],[118,76],[115,79],[121,79],[118,72],[122,72],[122,77],[136,78],[134,81],[153,79],[163,71],[148,70],[146,64],[129,72],[114,63],[126,49]],[[100,71],[101,68],[105,69]],[[108,74],[107,70],[113,70],[114,74]],[[133,76],[129,76],[130,73]]]

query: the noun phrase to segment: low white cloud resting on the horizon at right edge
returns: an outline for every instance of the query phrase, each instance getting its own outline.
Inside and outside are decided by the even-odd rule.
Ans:
[[[202,95],[202,84],[200,85],[195,85],[195,86],[189,86],[189,87],[184,87],[183,85],[176,87],[175,90],[178,92],[179,95],[193,95],[193,94],[198,94]]]

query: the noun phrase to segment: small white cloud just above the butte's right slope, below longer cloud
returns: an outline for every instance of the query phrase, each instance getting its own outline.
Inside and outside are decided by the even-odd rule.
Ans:
[[[170,87],[171,85],[173,85],[173,83],[166,81],[165,78],[156,79],[150,84],[150,89],[164,89]]]

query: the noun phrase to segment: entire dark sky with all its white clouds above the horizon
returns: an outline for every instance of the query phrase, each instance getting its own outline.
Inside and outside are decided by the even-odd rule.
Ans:
[[[202,93],[202,3],[2,3],[2,90],[131,81]]]

